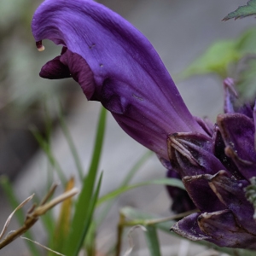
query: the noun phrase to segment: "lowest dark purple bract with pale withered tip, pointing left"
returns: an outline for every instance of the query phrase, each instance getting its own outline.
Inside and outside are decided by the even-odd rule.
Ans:
[[[190,214],[171,230],[190,240],[207,240],[220,247],[256,248],[256,236],[241,229],[230,210]]]

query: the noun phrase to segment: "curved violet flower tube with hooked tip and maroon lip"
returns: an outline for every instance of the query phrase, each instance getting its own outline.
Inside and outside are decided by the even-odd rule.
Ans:
[[[168,134],[205,133],[148,39],[102,4],[46,0],[33,16],[32,34],[38,49],[43,39],[63,46],[42,77],[73,77],[88,100],[102,102],[125,132],[161,157],[168,159]]]

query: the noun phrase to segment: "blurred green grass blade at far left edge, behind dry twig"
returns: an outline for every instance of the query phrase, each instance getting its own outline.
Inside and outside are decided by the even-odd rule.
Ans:
[[[8,198],[9,204],[11,205],[11,207],[13,209],[15,209],[20,203],[17,200],[17,197],[15,196],[14,189],[12,188],[12,185],[9,182],[9,178],[6,176],[1,176],[0,183],[1,183],[1,186],[3,188],[5,195]],[[20,211],[15,212],[15,217],[17,218],[20,226],[22,226],[24,224],[26,217],[21,209],[20,209]],[[26,236],[33,240],[33,236],[32,236],[32,233],[30,230],[26,231]],[[38,247],[36,247],[34,244],[32,244],[30,242],[26,242],[26,245],[29,248],[32,255],[35,255],[35,256],[40,255]]]

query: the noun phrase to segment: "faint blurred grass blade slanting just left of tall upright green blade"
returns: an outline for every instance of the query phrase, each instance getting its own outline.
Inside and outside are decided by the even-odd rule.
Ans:
[[[77,149],[76,149],[76,147],[75,147],[75,145],[73,143],[73,139],[71,137],[71,134],[68,131],[66,122],[65,122],[65,120],[63,118],[63,113],[62,113],[62,110],[61,110],[61,105],[60,105],[60,111],[59,111],[59,119],[60,119],[60,123],[61,123],[61,130],[63,131],[63,134],[64,134],[64,136],[67,139],[67,143],[68,143],[69,149],[71,151],[71,154],[73,155],[73,160],[75,162],[75,165],[77,167],[77,171],[79,173],[79,178],[80,178],[80,180],[83,180],[83,177],[84,177],[83,167],[82,167],[81,161],[79,160],[79,154],[78,154]]]

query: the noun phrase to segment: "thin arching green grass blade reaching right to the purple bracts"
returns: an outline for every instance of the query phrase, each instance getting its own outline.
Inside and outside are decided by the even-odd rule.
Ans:
[[[146,186],[146,185],[151,185],[151,184],[158,184],[158,185],[169,185],[173,187],[177,187],[179,189],[184,189],[183,183],[181,180],[177,178],[161,178],[161,179],[154,179],[154,180],[148,180],[143,183],[136,183],[132,184],[130,186],[124,186],[119,189],[115,189],[112,192],[108,193],[107,195],[103,195],[98,201],[97,201],[97,206],[101,205],[102,202],[108,201],[110,199],[113,199],[117,195],[120,195],[122,193],[125,193],[128,190],[135,189],[141,186]]]

